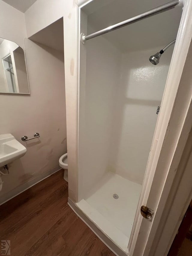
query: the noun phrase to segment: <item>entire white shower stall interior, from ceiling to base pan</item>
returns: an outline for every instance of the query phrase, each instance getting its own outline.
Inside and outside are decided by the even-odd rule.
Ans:
[[[183,6],[166,0],[94,2],[79,13],[76,207],[124,255],[140,208]],[[145,12],[145,19],[138,15]]]

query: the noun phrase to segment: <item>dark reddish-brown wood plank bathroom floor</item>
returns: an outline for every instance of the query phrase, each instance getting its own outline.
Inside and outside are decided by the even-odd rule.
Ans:
[[[10,255],[115,255],[67,205],[67,197],[59,171],[0,206],[0,240],[10,240]]]

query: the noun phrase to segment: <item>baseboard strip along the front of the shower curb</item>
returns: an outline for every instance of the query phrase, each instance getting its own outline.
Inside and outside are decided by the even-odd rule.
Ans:
[[[88,218],[81,209],[68,197],[68,205],[71,209],[82,219],[83,222],[98,236],[99,239],[117,256],[128,256],[124,251],[122,251],[119,246],[117,246],[102,230]]]

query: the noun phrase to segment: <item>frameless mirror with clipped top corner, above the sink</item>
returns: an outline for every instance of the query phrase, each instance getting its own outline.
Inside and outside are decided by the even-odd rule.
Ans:
[[[3,38],[0,38],[0,93],[30,93],[25,53],[18,44]]]

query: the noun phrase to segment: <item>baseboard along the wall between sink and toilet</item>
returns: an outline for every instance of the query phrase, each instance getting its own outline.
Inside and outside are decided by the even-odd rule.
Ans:
[[[38,177],[18,186],[16,188],[13,188],[11,191],[0,196],[0,205],[7,202],[10,199],[12,199],[13,197],[16,197],[18,194],[21,194],[23,191],[27,190],[28,188],[31,188],[38,182],[46,179],[47,177],[51,176],[53,173],[56,173],[59,170],[61,170],[61,167],[57,166],[54,169],[49,170],[46,173],[43,173],[43,174],[39,175]]]

